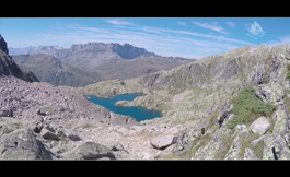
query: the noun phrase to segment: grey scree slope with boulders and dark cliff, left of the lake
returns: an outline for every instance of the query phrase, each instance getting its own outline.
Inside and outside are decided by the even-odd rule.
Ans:
[[[10,62],[0,66],[0,160],[134,158],[113,139],[105,146],[90,137],[96,128],[103,132],[107,126],[139,122],[92,104],[72,87],[31,83],[36,80],[23,76],[2,46],[0,61]]]

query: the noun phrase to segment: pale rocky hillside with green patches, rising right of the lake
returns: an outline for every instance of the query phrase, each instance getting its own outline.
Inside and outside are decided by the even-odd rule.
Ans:
[[[117,104],[163,110],[162,118],[141,122],[146,126],[185,126],[171,154],[158,158],[289,160],[289,44],[245,46],[81,91],[103,97],[146,93]]]

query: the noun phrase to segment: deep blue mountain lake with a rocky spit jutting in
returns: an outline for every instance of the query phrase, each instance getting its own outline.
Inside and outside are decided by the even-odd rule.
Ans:
[[[120,107],[120,106],[115,105],[116,102],[118,102],[118,101],[134,101],[137,96],[138,96],[138,94],[127,94],[127,95],[116,95],[116,96],[109,97],[109,98],[101,98],[97,96],[88,95],[89,99],[92,103],[94,103],[96,105],[101,105],[101,106],[107,108],[108,110],[111,110],[115,114],[130,116],[139,122],[142,120],[149,120],[149,119],[153,119],[156,117],[162,117],[161,111],[148,110],[146,108],[141,108],[141,107],[137,107],[137,106],[135,106],[135,107]]]

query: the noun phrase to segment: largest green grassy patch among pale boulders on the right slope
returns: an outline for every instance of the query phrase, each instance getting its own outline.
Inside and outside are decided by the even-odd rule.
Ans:
[[[270,116],[276,109],[271,103],[264,103],[259,99],[251,86],[244,87],[236,97],[230,103],[233,105],[233,118],[227,122],[229,129],[233,129],[236,125],[252,123],[259,116]]]

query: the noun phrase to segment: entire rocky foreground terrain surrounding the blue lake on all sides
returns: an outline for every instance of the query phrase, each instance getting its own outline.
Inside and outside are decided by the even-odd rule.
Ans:
[[[84,87],[1,76],[0,158],[289,160],[290,44],[245,46],[169,71]],[[136,122],[90,103],[160,109]]]

